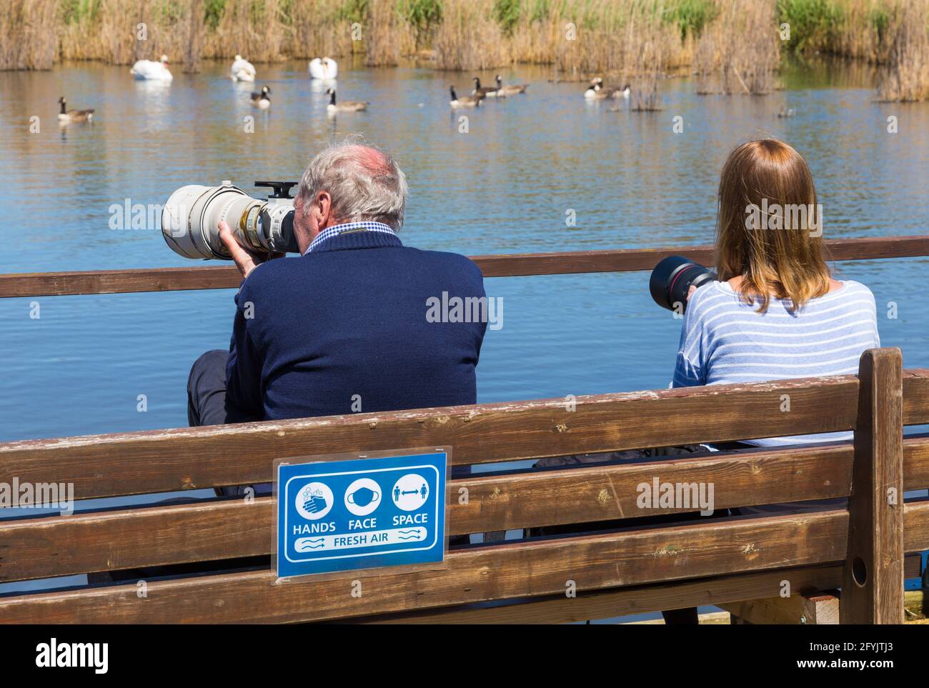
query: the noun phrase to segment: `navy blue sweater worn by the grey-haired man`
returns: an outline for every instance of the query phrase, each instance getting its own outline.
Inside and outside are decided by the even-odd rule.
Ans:
[[[442,292],[484,296],[480,269],[381,232],[257,266],[236,294],[228,403],[262,420],[476,403],[487,323],[427,321]]]

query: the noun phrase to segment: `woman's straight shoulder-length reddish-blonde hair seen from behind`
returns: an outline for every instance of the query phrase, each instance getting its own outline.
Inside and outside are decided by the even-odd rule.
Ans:
[[[829,292],[823,258],[822,213],[813,175],[786,143],[763,138],[729,153],[719,179],[716,271],[721,281],[741,276],[746,301],[773,294],[791,310]]]

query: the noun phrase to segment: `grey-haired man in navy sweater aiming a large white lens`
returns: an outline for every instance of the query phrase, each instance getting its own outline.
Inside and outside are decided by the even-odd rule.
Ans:
[[[483,278],[463,255],[400,241],[407,183],[397,162],[356,143],[324,149],[297,186],[292,229],[235,190],[241,220],[231,201],[201,215],[204,225],[229,218],[209,222],[218,232],[207,251],[228,253],[243,281],[229,351],[190,370],[191,425],[476,403],[487,323],[429,321],[426,302],[443,292],[486,299]],[[265,236],[299,257],[268,260],[282,254]]]

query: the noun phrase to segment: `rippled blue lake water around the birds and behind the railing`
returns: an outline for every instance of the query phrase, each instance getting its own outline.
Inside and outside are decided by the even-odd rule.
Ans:
[[[72,63],[0,72],[0,273],[192,266],[157,224],[108,227],[111,204],[164,203],[184,184],[296,179],[332,136],[360,133],[395,154],[410,182],[410,245],[465,254],[709,243],[729,149],[778,136],[809,162],[827,238],[929,233],[929,103],[875,103],[873,73],[792,69],[768,97],[698,96],[688,79],[661,84],[665,109],[585,102],[582,84],[543,68],[504,71],[529,95],[451,113],[448,84],[471,74],[340,65],[339,95],[369,111],[326,115],[306,63],[259,65],[272,106],[227,65],[179,73],[169,86],[124,67]],[[479,75],[490,82],[493,72]],[[59,96],[95,108],[60,128]],[[619,107],[618,111],[611,111]],[[796,115],[779,119],[793,108]],[[466,114],[468,132],[459,132]],[[684,118],[674,134],[672,118]],[[30,118],[40,130],[30,133]],[[255,131],[244,132],[244,118]],[[887,117],[899,133],[887,132]],[[576,227],[567,227],[569,211]],[[929,367],[922,303],[929,259],[845,262],[840,279],[874,292],[884,345]],[[387,286],[387,285],[386,285]],[[488,331],[481,402],[667,386],[680,321],[648,296],[647,273],[488,279],[504,326]],[[225,347],[233,292],[170,292],[0,300],[0,441],[186,425],[190,363]],[[286,298],[281,294],[281,298]],[[41,318],[30,318],[33,302]],[[896,318],[884,318],[888,304]],[[137,410],[139,395],[148,408]],[[109,504],[117,503],[108,500]]]

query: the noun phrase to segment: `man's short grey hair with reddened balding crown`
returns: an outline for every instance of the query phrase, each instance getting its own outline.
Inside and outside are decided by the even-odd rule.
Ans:
[[[406,175],[383,150],[357,141],[330,144],[309,162],[294,204],[303,208],[320,191],[332,197],[332,213],[339,222],[368,220],[394,230],[403,227]]]

